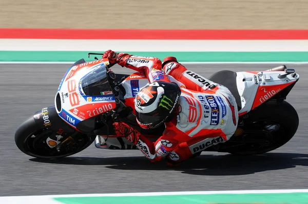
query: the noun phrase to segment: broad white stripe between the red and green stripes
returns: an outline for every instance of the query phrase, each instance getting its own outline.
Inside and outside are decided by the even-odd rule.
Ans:
[[[308,40],[42,40],[0,39],[8,51],[308,51]]]

